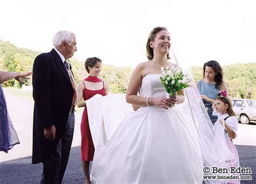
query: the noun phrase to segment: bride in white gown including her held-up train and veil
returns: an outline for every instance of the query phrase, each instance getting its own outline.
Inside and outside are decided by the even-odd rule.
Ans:
[[[149,61],[134,69],[126,93],[126,101],[140,107],[137,111],[131,112],[122,95],[86,101],[95,145],[92,183],[202,183],[212,174],[203,173],[204,166],[228,168],[237,161],[225,142],[224,126],[215,123],[212,131],[196,87],[165,97],[159,77],[161,67],[176,66],[168,61],[170,47],[169,32],[155,27],[146,45]]]

